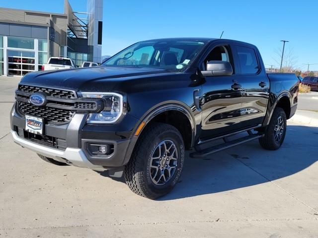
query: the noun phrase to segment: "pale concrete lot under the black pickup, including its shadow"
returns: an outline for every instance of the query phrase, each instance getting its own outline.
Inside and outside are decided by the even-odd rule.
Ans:
[[[14,144],[17,82],[0,77],[0,238],[318,237],[318,127],[289,121],[278,151],[253,141],[187,157],[179,184],[152,201],[122,179],[52,165]]]

